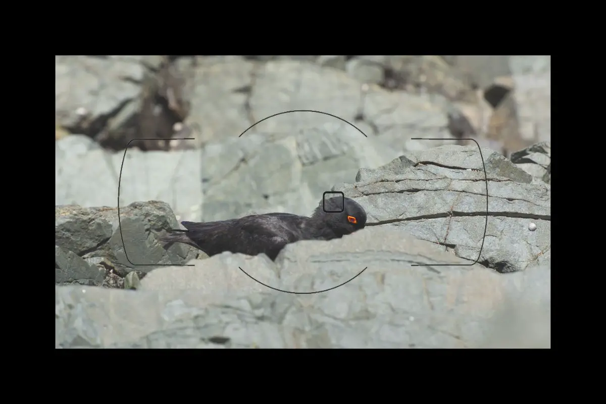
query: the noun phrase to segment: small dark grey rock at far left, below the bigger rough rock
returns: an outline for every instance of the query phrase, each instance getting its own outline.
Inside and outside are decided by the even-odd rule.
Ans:
[[[98,285],[103,280],[101,272],[72,251],[55,245],[55,283],[77,282],[82,285]]]

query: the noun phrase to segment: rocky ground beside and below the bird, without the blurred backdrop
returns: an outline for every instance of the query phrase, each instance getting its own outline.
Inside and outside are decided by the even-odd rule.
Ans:
[[[484,164],[477,147],[444,145],[359,170],[334,189],[365,207],[367,228],[287,245],[275,262],[164,251],[175,217],[145,202],[121,209],[129,259],[189,266],[135,268],[116,209],[57,207],[56,346],[549,347],[550,185],[481,151]],[[102,281],[95,264],[112,268]],[[107,272],[118,288],[89,286],[112,286]]]

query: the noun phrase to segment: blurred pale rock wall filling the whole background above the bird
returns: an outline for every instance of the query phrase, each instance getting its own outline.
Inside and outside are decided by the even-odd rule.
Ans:
[[[125,147],[145,138],[126,153],[121,206],[309,214],[359,168],[456,142],[412,137],[506,156],[550,141],[550,69],[550,56],[56,56],[55,204],[115,207]],[[357,129],[295,112],[247,131],[287,110]]]

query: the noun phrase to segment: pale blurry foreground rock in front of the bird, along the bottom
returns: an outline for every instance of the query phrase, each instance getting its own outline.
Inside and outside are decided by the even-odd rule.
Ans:
[[[224,253],[202,261],[195,270],[187,268],[188,273],[182,273],[185,268],[159,268],[154,290],[58,287],[56,346],[464,348],[549,344],[549,317],[541,309],[548,305],[549,297],[550,271],[545,268],[533,268],[532,276],[503,276],[479,265],[423,265],[427,261],[448,264],[462,260],[388,228],[365,229],[325,243],[294,243],[287,249],[276,267],[281,275],[294,275],[292,266],[298,267],[299,278],[294,284],[299,288],[332,284],[339,271],[350,270],[359,261],[368,269],[324,293],[293,295],[261,290],[233,296],[231,291],[238,288],[235,278],[234,285],[209,285],[212,277],[208,274],[226,270],[240,273],[231,265],[241,265],[244,257]],[[293,261],[298,258],[303,260]],[[273,264],[266,258],[250,259],[255,260],[250,270],[271,271]],[[337,267],[325,271],[322,265]],[[254,281],[250,282],[256,288]],[[218,296],[214,289],[225,287],[231,291]],[[507,333],[492,320],[511,315],[510,323],[516,328]],[[529,323],[529,319],[534,322]]]

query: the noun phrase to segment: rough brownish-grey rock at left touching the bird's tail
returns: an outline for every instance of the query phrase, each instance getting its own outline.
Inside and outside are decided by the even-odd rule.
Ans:
[[[162,231],[179,226],[168,204],[135,202],[121,208],[120,213],[122,236],[116,208],[58,206],[55,243],[85,260],[103,261],[104,267],[110,266],[121,277],[135,268],[147,273],[153,265],[185,263],[197,256],[197,250],[187,245],[175,244],[164,250],[158,242]]]

